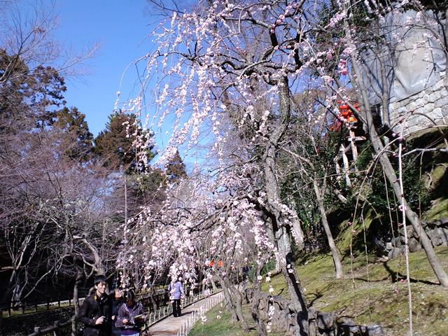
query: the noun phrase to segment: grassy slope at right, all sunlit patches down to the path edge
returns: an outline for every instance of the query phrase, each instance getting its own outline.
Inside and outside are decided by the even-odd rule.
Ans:
[[[439,219],[448,214],[448,201],[438,201],[433,209],[426,213],[426,220]],[[297,260],[297,274],[310,306],[325,312],[336,311],[339,316],[351,318],[361,324],[380,323],[384,326],[386,335],[406,335],[409,328],[409,308],[405,257],[402,255],[393,260],[378,262],[373,253],[367,251],[367,262],[363,247],[363,230],[367,230],[370,223],[367,216],[364,225],[341,225],[342,232],[337,239],[337,246],[339,251],[342,251],[344,279],[335,279],[330,253],[307,255]],[[349,257],[351,244],[358,246],[358,250],[353,251],[353,259]],[[435,251],[448,272],[448,247],[437,247]],[[437,285],[437,279],[424,251],[410,253],[409,267],[414,335],[448,335],[448,289]],[[273,276],[271,283],[274,295],[288,297],[286,283],[281,275]],[[268,284],[263,283],[262,290],[267,292],[268,288]],[[252,323],[248,307],[246,314],[248,321]],[[216,318],[217,315],[221,318]],[[256,335],[255,330],[244,334],[237,325],[233,325],[230,314],[223,307],[212,309],[207,317],[207,323],[197,323],[189,335]],[[278,335],[284,335],[284,332],[279,332]]]

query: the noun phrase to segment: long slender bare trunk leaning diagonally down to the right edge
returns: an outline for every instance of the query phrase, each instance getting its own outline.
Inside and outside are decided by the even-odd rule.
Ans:
[[[367,89],[365,87],[365,84],[363,82],[363,78],[360,75],[360,66],[358,64],[357,54],[356,54],[356,47],[353,44],[353,40],[351,38],[351,32],[349,27],[346,25],[346,38],[349,43],[349,46],[352,47],[351,52],[351,61],[353,64],[353,71],[355,71],[357,80],[358,80],[358,88],[360,92],[360,96],[363,102],[363,115],[365,116],[365,123],[367,127],[367,131],[370,137],[370,141],[372,141],[372,146],[374,148],[374,152],[378,155],[379,162],[381,164],[381,167],[384,171],[384,174],[386,175],[386,178],[388,179],[388,182],[392,186],[393,193],[395,194],[395,197],[397,197],[398,200],[403,200],[403,205],[405,207],[406,217],[408,221],[412,224],[412,227],[414,228],[417,235],[419,235],[421,244],[423,246],[423,249],[425,250],[426,256],[428,257],[428,261],[433,268],[433,271],[435,275],[437,276],[437,279],[440,281],[440,284],[444,287],[448,287],[448,276],[447,273],[444,272],[444,269],[442,265],[440,265],[440,262],[437,260],[437,256],[435,255],[435,251],[433,248],[433,245],[431,244],[430,239],[428,238],[428,235],[426,235],[425,230],[423,230],[423,227],[421,226],[420,218],[417,216],[417,214],[412,211],[412,209],[409,207],[409,204],[407,203],[407,200],[405,199],[404,195],[402,195],[400,191],[400,184],[397,183],[397,175],[395,174],[395,170],[393,169],[393,166],[391,164],[391,161],[389,160],[388,156],[384,152],[384,146],[381,142],[381,139],[378,136],[377,130],[374,127],[373,124],[373,118],[372,118],[372,112],[370,110],[370,102],[367,97]]]

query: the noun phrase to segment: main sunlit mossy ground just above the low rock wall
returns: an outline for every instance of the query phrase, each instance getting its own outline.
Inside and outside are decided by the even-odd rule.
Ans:
[[[448,269],[448,247],[435,248],[437,258]],[[310,306],[321,311],[336,311],[339,316],[361,324],[380,323],[387,335],[405,335],[409,308],[405,281],[404,256],[374,262],[359,255],[343,259],[345,277],[335,279],[331,255],[321,255],[297,266]],[[424,251],[409,255],[413,297],[413,319],[416,335],[446,335],[448,330],[447,289],[437,284]],[[281,274],[272,278],[274,294],[288,297]],[[267,283],[262,286],[268,289]]]

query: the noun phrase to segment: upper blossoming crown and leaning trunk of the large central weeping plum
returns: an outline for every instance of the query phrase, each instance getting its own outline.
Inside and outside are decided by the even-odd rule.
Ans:
[[[300,44],[308,26],[304,3],[200,1],[189,13],[174,12],[169,25],[155,34],[158,49],[147,57],[146,78],[147,83],[155,73],[160,78],[154,126],[175,118],[169,146],[197,144],[211,125],[213,149],[223,162],[223,148],[231,141],[223,117],[237,111],[239,127],[257,125],[248,145],[262,159],[267,230],[299,313],[298,335],[308,333],[308,311],[290,248],[294,213],[281,202],[276,160],[290,125],[291,90],[309,81],[301,59],[306,45]],[[259,102],[265,102],[262,110]],[[297,239],[300,244],[302,237]]]

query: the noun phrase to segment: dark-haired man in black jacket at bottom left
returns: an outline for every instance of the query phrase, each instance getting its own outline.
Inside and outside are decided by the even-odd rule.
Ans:
[[[106,294],[106,276],[94,279],[95,292],[87,296],[79,309],[78,321],[84,323],[84,336],[111,335],[111,301]]]

